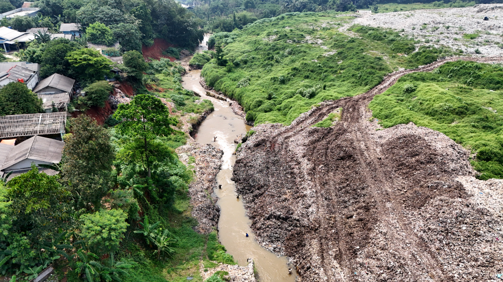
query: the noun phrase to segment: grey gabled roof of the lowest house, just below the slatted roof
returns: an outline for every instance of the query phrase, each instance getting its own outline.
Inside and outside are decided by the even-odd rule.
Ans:
[[[0,170],[5,170],[26,159],[57,164],[61,161],[63,146],[62,141],[35,135],[14,146]]]

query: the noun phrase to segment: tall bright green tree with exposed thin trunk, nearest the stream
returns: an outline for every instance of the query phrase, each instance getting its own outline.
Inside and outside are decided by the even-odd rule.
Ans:
[[[123,120],[116,127],[121,135],[143,143],[140,154],[150,178],[152,163],[155,161],[155,156],[149,151],[150,140],[177,132],[171,127],[178,123],[177,119],[170,117],[169,109],[160,99],[145,94],[134,96],[128,104],[120,104],[114,117]]]

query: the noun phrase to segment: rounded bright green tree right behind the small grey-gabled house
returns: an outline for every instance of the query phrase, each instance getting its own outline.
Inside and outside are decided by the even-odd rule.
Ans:
[[[95,49],[79,49],[68,53],[66,60],[78,77],[87,82],[102,80],[112,69],[112,61]]]

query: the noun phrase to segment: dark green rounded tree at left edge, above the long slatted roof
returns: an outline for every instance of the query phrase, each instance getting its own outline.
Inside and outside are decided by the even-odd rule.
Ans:
[[[42,100],[21,82],[0,88],[0,115],[44,112]]]

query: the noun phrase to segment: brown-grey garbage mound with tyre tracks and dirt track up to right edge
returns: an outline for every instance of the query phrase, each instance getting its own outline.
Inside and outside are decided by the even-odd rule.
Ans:
[[[384,130],[367,93],[322,103],[291,125],[262,124],[233,180],[258,240],[290,256],[299,281],[500,281],[503,185],[479,181],[469,152],[413,124]],[[312,127],[342,107],[329,128]]]

